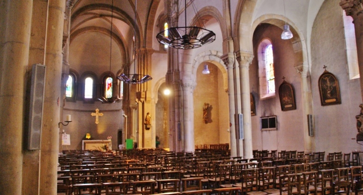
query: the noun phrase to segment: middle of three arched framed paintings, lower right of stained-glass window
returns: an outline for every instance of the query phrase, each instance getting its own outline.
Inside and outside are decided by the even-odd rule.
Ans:
[[[278,96],[280,98],[282,111],[296,110],[294,89],[292,85],[287,83],[285,80],[283,80],[278,88]]]

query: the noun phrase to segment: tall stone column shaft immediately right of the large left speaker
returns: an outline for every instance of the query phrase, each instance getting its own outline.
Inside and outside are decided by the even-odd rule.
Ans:
[[[62,40],[65,0],[48,0],[48,29],[46,42],[46,84],[44,94],[43,129],[40,154],[40,194],[57,194],[57,165],[59,150],[62,76]]]

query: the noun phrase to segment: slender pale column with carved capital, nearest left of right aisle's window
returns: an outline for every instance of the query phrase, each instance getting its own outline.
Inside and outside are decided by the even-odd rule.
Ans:
[[[251,126],[251,99],[250,99],[250,73],[249,67],[254,56],[250,52],[239,51],[239,62],[242,92],[242,114],[244,129],[244,158],[253,158],[252,153],[252,126]]]

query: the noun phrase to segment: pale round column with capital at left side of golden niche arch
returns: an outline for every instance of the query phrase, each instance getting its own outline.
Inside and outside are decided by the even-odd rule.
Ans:
[[[192,81],[182,80],[183,91],[183,127],[184,127],[184,151],[193,152],[195,150],[194,144],[194,100],[193,90],[195,84]]]

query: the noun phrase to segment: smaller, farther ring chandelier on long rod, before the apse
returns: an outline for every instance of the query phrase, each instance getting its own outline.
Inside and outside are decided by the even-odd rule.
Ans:
[[[135,20],[134,20],[134,74],[124,74],[122,73],[117,79],[123,81],[126,84],[142,84],[152,80],[153,78],[150,75],[142,75],[136,73],[136,9],[137,9],[137,0],[135,0]]]

